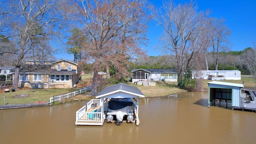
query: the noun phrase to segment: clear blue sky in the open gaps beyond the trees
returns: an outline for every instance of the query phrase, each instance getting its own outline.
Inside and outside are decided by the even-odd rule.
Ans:
[[[149,0],[155,6],[162,5],[162,0]],[[190,0],[174,0],[176,4],[190,2]],[[253,47],[256,43],[256,0],[196,0],[199,10],[212,10],[211,17],[223,18],[231,31],[230,47],[232,51],[241,51]],[[162,52],[158,48],[158,39],[162,34],[162,28],[150,22],[148,29],[148,56],[159,56]],[[72,55],[56,55],[57,60],[65,58],[73,60]]]

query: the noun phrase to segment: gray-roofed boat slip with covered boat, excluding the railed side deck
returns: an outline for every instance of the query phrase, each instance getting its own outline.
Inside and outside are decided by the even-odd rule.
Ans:
[[[104,88],[96,98],[103,98],[106,102],[107,122],[136,122],[139,120],[139,98],[144,98],[144,94],[135,86],[128,84],[116,84]],[[120,114],[120,115],[119,115]],[[124,120],[118,120],[123,117]]]

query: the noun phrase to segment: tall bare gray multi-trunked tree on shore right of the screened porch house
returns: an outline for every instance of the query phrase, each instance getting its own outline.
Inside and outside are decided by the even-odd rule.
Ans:
[[[164,29],[164,48],[170,52],[170,56],[176,56],[178,80],[188,72],[194,54],[202,49],[200,38],[207,24],[208,13],[198,13],[197,10],[193,2],[176,5],[170,0],[163,3],[155,17]]]

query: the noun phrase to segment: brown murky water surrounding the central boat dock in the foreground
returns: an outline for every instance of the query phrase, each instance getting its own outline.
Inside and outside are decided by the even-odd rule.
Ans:
[[[0,110],[1,144],[255,144],[256,114],[207,107],[207,92],[140,99],[140,125],[75,126],[87,102]]]

